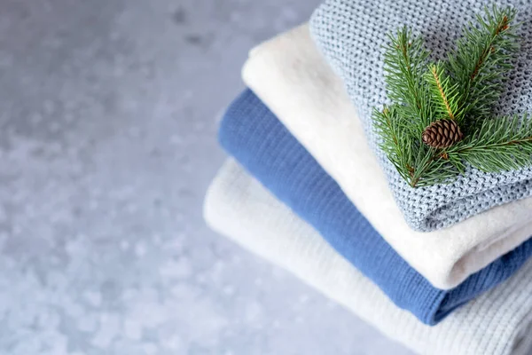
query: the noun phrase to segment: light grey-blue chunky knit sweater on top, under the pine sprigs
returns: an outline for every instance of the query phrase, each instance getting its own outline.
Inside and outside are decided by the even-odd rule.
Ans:
[[[325,0],[310,20],[317,46],[345,83],[359,109],[372,149],[387,175],[403,215],[412,228],[432,231],[453,225],[494,206],[532,193],[532,168],[504,173],[468,169],[450,185],[412,188],[379,149],[372,108],[389,103],[383,71],[387,35],[403,25],[423,36],[433,59],[445,59],[467,21],[491,0]],[[497,113],[532,111],[532,6],[528,0],[497,1],[519,10],[521,51]]]

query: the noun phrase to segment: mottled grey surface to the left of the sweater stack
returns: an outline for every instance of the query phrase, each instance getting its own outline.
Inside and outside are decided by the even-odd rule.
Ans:
[[[317,3],[0,3],[1,354],[409,353],[201,219],[247,50]]]

